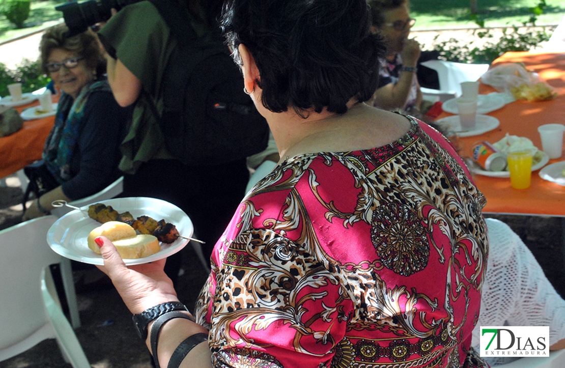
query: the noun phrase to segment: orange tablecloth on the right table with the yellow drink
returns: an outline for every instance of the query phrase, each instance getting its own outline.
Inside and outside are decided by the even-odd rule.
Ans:
[[[527,137],[541,149],[540,134],[537,127],[542,124],[565,124],[565,54],[506,53],[494,60],[493,66],[503,62],[523,62],[528,69],[540,74],[542,79],[555,88],[559,96],[551,101],[515,101],[490,112],[500,121],[493,131],[479,136],[459,138],[463,157],[471,157],[471,148],[476,141],[496,142],[506,133]],[[480,93],[495,90],[481,84]],[[443,113],[439,118],[451,114]],[[549,163],[565,160],[565,155],[552,159]],[[541,179],[537,171],[532,173],[532,185],[528,189],[514,189],[510,179],[473,175],[479,190],[486,196],[485,213],[536,214],[565,217],[565,187]]]

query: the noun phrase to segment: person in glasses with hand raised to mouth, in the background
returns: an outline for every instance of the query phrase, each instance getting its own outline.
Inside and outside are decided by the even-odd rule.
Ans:
[[[381,60],[379,88],[372,104],[385,110],[404,110],[420,117],[422,95],[416,64],[420,45],[409,39],[410,28],[416,23],[410,18],[407,0],[368,0],[372,13],[372,31],[380,33],[386,42],[386,55]]]

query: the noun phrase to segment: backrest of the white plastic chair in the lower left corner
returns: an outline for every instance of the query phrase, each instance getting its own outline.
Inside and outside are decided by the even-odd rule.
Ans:
[[[45,266],[61,260],[46,241],[55,221],[44,216],[0,231],[0,361],[54,337],[38,282]]]

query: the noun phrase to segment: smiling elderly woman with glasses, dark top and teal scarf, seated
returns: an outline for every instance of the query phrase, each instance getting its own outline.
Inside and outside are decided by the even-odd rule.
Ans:
[[[24,220],[49,213],[54,200],[78,200],[118,179],[119,146],[131,115],[112,95],[92,31],[69,37],[64,24],[47,29],[40,63],[61,94],[42,161],[25,169],[38,185]]]

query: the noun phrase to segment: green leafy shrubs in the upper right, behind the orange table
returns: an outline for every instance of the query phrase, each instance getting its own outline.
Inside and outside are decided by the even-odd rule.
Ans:
[[[551,32],[547,32],[546,27],[533,28],[539,15],[544,12],[545,0],[540,0],[537,6],[529,8],[530,18],[523,22],[524,27],[516,25],[502,30],[502,36],[494,40],[492,29],[484,28],[485,19],[477,14],[470,15],[470,19],[475,21],[480,30],[473,31],[481,42],[480,46],[475,46],[476,42],[462,42],[455,38],[447,41],[437,42],[434,38],[435,49],[439,51],[440,58],[447,61],[459,63],[490,64],[507,51],[529,51],[535,49],[541,42],[549,40]],[[552,30],[553,31],[553,30]],[[491,41],[492,40],[492,41]]]

